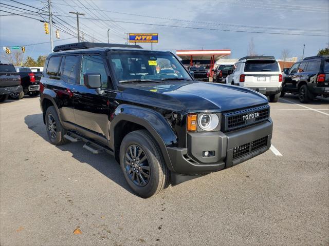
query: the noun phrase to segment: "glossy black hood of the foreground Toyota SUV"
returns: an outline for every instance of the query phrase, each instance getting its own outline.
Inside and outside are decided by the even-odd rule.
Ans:
[[[265,96],[250,89],[200,81],[175,80],[122,87],[122,97],[126,100],[188,113],[224,112],[268,103]]]

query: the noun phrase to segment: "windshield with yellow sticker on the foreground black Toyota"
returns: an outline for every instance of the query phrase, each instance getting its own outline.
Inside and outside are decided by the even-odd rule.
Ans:
[[[119,83],[166,78],[192,79],[177,58],[167,52],[120,51],[111,53],[110,59]]]

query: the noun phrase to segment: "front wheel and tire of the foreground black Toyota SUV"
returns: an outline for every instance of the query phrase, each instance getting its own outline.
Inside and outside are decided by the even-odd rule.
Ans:
[[[156,141],[146,130],[131,132],[123,138],[120,166],[128,185],[140,197],[151,197],[168,186],[169,170]]]

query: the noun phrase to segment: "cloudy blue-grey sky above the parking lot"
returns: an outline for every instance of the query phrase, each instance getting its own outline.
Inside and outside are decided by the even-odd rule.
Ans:
[[[49,18],[44,12],[46,2],[0,0],[2,53],[4,46],[25,46],[25,56],[35,59],[50,53],[50,43],[39,44],[50,42],[39,21]],[[107,29],[110,43],[120,44],[126,42],[129,32],[158,33],[159,43],[153,44],[153,49],[174,53],[182,49],[231,49],[230,58],[241,58],[247,55],[251,38],[257,54],[278,59],[284,49],[290,57],[300,58],[304,44],[304,57],[329,46],[329,0],[51,0],[51,5],[54,46],[77,42],[76,15],[70,11],[85,14],[79,23],[86,41],[107,43]],[[57,28],[62,29],[60,39],[54,34]],[[141,46],[151,49],[151,44]]]

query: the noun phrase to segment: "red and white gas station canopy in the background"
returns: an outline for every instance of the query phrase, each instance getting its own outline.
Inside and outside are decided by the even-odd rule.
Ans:
[[[231,50],[177,50],[176,55],[183,60],[189,59],[220,59],[230,55]]]

